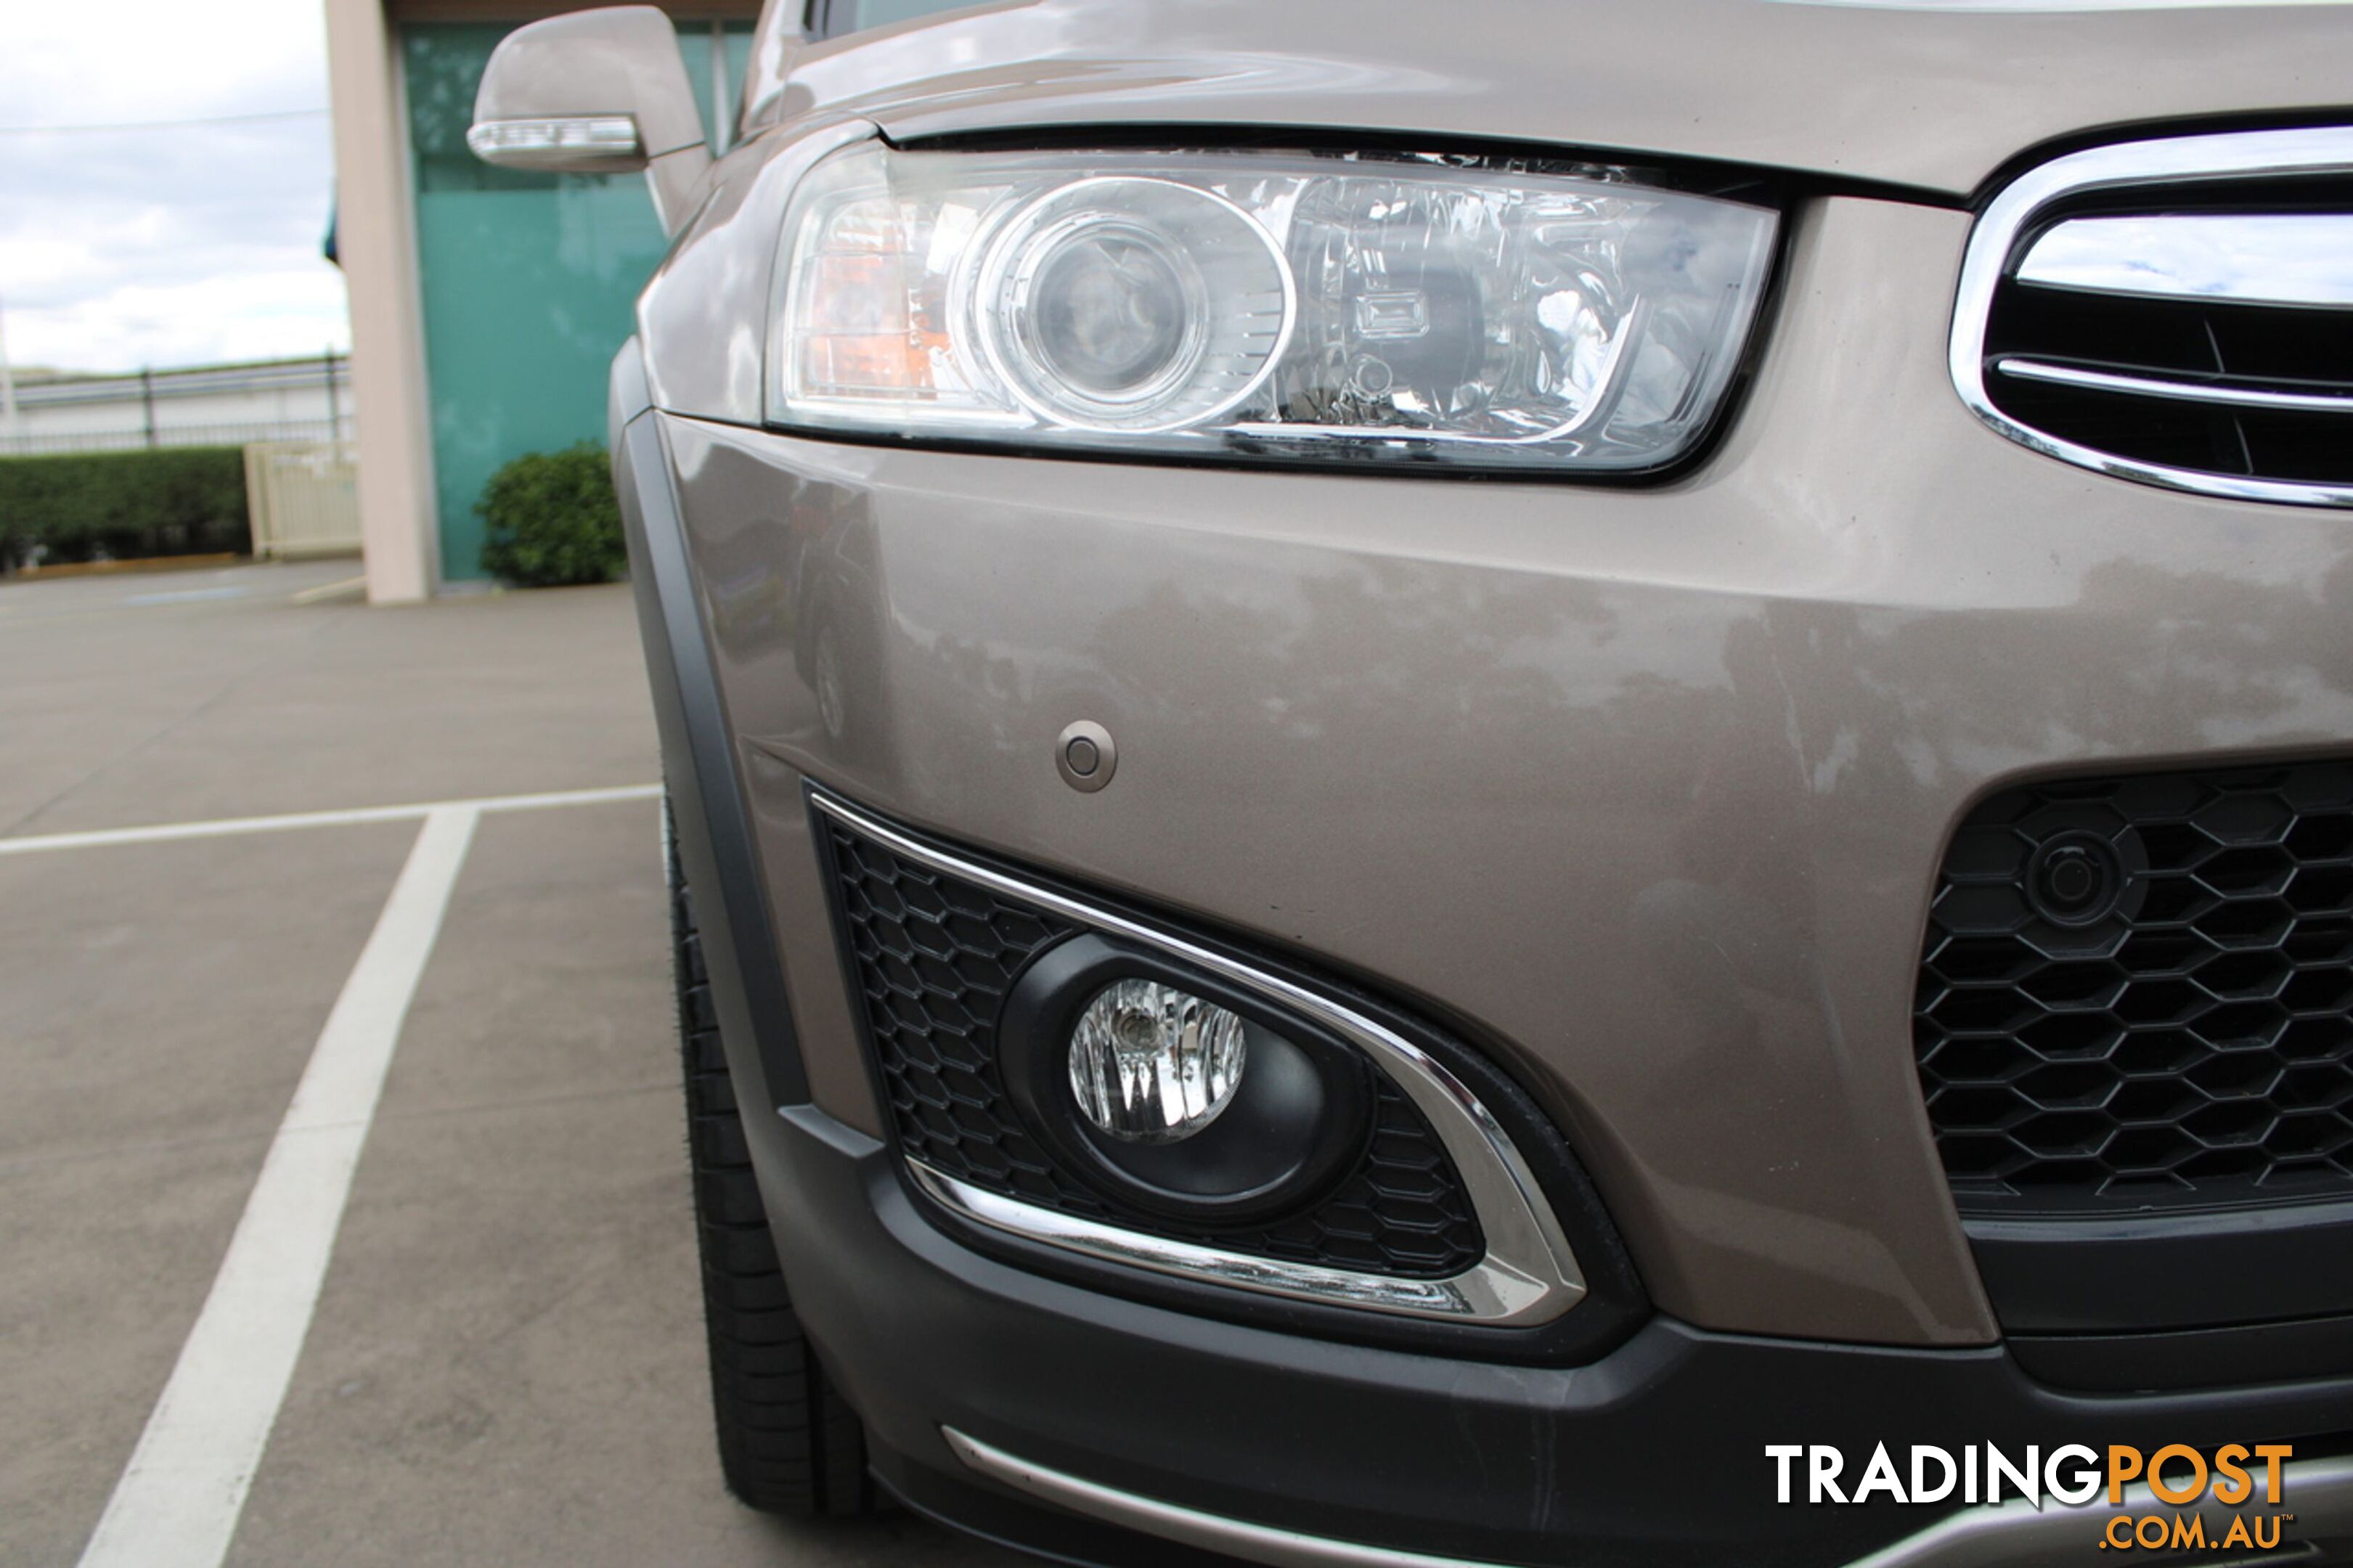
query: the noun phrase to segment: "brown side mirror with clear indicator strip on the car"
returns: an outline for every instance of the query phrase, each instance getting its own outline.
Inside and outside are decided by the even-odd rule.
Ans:
[[[678,233],[711,167],[678,28],[652,5],[548,16],[508,33],[473,99],[473,155],[508,170],[645,170]]]

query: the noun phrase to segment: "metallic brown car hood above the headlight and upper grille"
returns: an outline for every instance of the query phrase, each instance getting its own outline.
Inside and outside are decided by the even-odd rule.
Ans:
[[[1249,125],[1713,158],[1965,198],[2019,151],[2209,115],[2353,118],[2353,5],[2181,0],[1019,0],[772,42],[753,120],[894,139]]]

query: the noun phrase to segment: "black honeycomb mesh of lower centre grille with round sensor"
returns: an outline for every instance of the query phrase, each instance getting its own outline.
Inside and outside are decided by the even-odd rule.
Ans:
[[[1913,1012],[1965,1210],[2353,1196],[2353,768],[2012,789],[1946,852]]]

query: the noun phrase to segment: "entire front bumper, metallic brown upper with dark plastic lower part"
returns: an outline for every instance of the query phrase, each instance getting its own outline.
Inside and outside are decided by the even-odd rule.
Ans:
[[[2344,1382],[2038,1387],[1937,1163],[1913,977],[1969,805],[2353,737],[2344,518],[2125,485],[1979,426],[1944,356],[1965,238],[1948,210],[1800,210],[1741,407],[1654,487],[633,424],[694,584],[640,593],[675,593],[668,636],[708,655],[699,768],[736,793],[769,1010],[788,996],[793,1083],[753,1097],[807,1102],[755,1140],[762,1184],[904,1490],[969,1486],[953,1427],[1419,1552],[1842,1561],[1920,1516],[1774,1509],[1765,1443],[2353,1429]],[[1118,742],[1104,791],[1056,775],[1078,718]],[[1591,1170],[1661,1316],[1593,1366],[1480,1366],[951,1241],[873,1142],[812,779],[1482,1045]],[[936,1507],[972,1521],[969,1495],[991,1493]]]

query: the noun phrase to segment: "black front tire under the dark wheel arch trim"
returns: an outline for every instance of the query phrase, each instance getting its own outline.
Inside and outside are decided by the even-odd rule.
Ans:
[[[687,1165],[694,1175],[720,1469],[727,1490],[765,1514],[866,1514],[875,1504],[866,1429],[826,1380],[786,1293],[720,1050],[711,975],[675,831],[666,833],[666,850],[678,1041],[687,1078]]]

